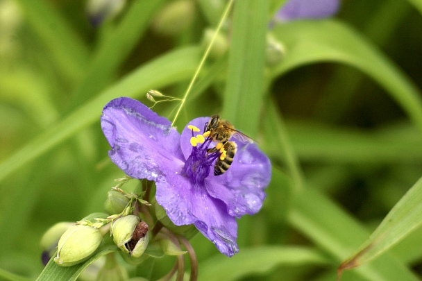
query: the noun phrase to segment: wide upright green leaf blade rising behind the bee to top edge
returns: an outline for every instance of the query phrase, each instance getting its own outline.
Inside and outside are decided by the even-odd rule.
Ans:
[[[235,2],[223,117],[254,137],[264,94],[269,1]]]

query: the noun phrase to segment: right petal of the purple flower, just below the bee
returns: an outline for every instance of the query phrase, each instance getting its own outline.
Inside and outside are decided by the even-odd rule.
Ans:
[[[255,214],[266,196],[264,189],[271,180],[271,163],[256,144],[237,141],[237,153],[230,168],[220,176],[205,179],[208,194],[227,204],[228,214],[239,218]]]

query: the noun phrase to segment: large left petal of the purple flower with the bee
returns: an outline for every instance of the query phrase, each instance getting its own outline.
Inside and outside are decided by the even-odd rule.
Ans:
[[[183,167],[176,128],[140,101],[126,97],[110,101],[103,109],[101,128],[112,146],[108,155],[128,176],[156,180]]]

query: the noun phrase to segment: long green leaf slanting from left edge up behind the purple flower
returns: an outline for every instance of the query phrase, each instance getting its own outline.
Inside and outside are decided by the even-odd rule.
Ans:
[[[86,126],[99,121],[103,106],[111,99],[118,96],[135,97],[152,88],[164,87],[189,78],[198,65],[199,56],[198,48],[189,47],[167,53],[167,55],[143,65],[8,157],[0,164],[0,180]]]

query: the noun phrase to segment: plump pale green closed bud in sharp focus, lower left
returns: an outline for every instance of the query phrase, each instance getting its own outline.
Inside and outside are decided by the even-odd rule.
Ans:
[[[58,241],[54,262],[60,266],[72,266],[89,258],[101,244],[103,235],[98,228],[74,225]]]

